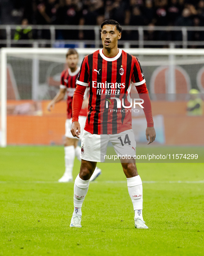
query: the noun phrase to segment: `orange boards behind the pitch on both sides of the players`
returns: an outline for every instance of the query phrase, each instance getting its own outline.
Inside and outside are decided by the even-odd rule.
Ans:
[[[9,101],[8,106],[32,103],[31,100]],[[50,101],[40,101],[35,115],[7,115],[8,144],[63,144],[66,101],[49,112]],[[38,104],[39,108],[39,104]],[[186,101],[152,101],[154,115],[163,115],[166,145],[204,145],[204,116],[187,116]]]

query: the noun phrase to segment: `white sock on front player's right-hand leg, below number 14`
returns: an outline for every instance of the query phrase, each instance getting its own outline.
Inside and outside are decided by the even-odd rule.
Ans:
[[[142,180],[140,176],[137,175],[132,178],[127,178],[127,186],[128,186],[129,196],[133,203],[134,210],[141,211],[143,209],[143,189],[142,189]],[[140,218],[143,220],[142,211],[140,212]]]

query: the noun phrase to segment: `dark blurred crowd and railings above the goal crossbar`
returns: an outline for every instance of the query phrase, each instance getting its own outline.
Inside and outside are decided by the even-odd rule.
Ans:
[[[99,47],[106,19],[120,46],[203,47],[204,0],[1,0],[0,47]]]

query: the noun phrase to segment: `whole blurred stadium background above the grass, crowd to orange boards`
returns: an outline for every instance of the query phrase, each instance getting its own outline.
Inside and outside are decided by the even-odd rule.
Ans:
[[[0,47],[7,49],[6,58],[1,58],[7,144],[63,144],[66,101],[51,113],[47,104],[67,68],[67,48],[80,50],[80,65],[85,55],[102,47],[100,24],[106,19],[122,25],[119,47],[136,55],[142,65],[152,100],[155,144],[204,145],[204,0],[0,0]],[[34,51],[39,48],[44,52]],[[145,127],[143,111],[134,113],[139,143],[146,142]]]

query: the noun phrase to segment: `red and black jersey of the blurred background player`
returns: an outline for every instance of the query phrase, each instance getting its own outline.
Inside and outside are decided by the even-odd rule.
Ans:
[[[77,67],[75,72],[71,72],[71,70],[65,69],[61,72],[60,79],[60,88],[67,89],[67,118],[70,119],[72,117],[72,101],[74,96],[74,91],[76,89],[76,80],[79,75],[80,68]],[[87,115],[87,109],[81,109],[80,116]]]

